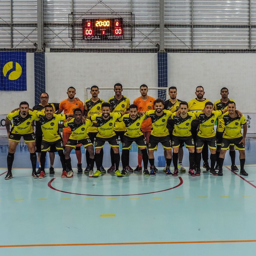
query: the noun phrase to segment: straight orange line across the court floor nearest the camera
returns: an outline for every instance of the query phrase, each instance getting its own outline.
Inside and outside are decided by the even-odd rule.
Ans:
[[[169,242],[136,242],[136,243],[94,243],[94,244],[16,244],[0,245],[3,247],[47,247],[47,246],[99,246],[99,245],[146,245],[146,244],[214,244],[214,243],[254,243],[256,240],[227,241],[169,241]]]

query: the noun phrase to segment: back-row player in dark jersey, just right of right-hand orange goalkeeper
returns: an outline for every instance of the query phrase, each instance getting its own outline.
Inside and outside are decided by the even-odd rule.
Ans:
[[[182,102],[181,100],[177,99],[177,88],[175,86],[171,86],[169,88],[169,96],[170,96],[170,99],[169,100],[166,100],[164,102],[164,108],[163,109],[167,109],[167,110],[170,110],[172,112],[175,112],[177,110],[179,110],[180,108],[180,102]],[[174,121],[173,119],[168,119],[168,122],[167,122],[167,128],[168,128],[168,131],[169,131],[169,134],[170,134],[170,137],[171,137],[171,140],[172,140],[172,131],[174,129]],[[180,172],[186,172],[186,169],[183,167],[182,165],[182,160],[183,160],[183,146],[184,146],[184,143],[182,143],[179,147],[179,152],[178,152],[178,160],[179,160],[179,163],[178,163],[178,170]],[[166,151],[164,151],[164,154],[165,154],[165,158],[166,158]],[[165,171],[165,169],[164,169]]]

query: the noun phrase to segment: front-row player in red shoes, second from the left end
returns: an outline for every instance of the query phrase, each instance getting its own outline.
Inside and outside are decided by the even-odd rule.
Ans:
[[[66,172],[66,163],[63,152],[63,141],[61,139],[61,135],[58,133],[58,122],[67,119],[68,116],[72,115],[61,115],[55,114],[52,105],[47,105],[44,108],[44,112],[35,112],[39,117],[39,121],[41,123],[41,128],[43,131],[43,140],[41,144],[41,173],[39,178],[44,178],[45,176],[45,159],[46,153],[50,150],[51,146],[54,146],[57,149],[58,155],[61,160],[62,166],[62,178],[67,177]]]

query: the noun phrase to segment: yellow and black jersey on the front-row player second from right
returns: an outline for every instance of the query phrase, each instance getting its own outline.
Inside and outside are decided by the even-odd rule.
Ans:
[[[215,136],[214,124],[223,113],[221,110],[212,111],[210,116],[207,116],[202,111],[194,112],[199,119],[198,136],[203,138],[210,138]]]

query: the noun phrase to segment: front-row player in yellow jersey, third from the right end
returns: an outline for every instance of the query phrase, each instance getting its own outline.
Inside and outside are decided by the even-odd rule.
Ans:
[[[173,113],[171,118],[174,120],[174,129],[172,131],[172,158],[174,165],[173,176],[178,175],[178,152],[180,143],[185,143],[189,151],[189,175],[195,176],[193,164],[195,163],[195,142],[192,136],[192,121],[196,116],[192,112],[188,112],[188,103],[180,102],[180,108],[177,113]]]

